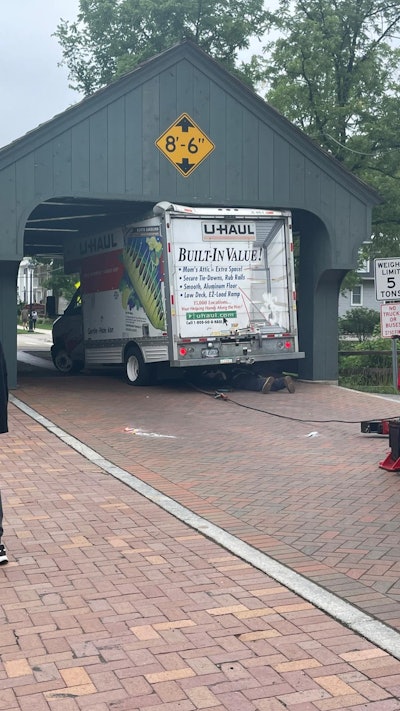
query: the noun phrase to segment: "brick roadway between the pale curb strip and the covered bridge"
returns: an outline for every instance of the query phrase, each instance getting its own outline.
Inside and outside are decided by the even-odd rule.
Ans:
[[[18,398],[195,513],[400,629],[400,474],[379,468],[387,439],[362,435],[359,425],[395,416],[398,403],[299,383],[294,395],[231,393],[235,404],[184,386],[130,388],[112,374],[35,373],[20,378]]]

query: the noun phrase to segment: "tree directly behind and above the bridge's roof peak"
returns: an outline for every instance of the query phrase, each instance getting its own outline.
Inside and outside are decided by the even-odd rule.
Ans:
[[[251,82],[238,52],[265,30],[263,0],[80,0],[58,38],[74,89],[91,94],[146,59],[190,39]],[[256,67],[254,67],[256,70]]]

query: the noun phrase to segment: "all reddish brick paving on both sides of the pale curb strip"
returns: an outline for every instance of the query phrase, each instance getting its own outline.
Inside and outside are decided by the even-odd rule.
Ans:
[[[357,425],[248,409],[356,420],[396,414],[393,403],[300,384],[295,395],[230,394],[238,406],[183,386],[34,372],[14,394],[191,510],[397,624],[399,475],[377,466],[387,443]],[[10,414],[0,450],[11,558],[0,568],[0,709],[400,709],[399,661],[14,406]]]

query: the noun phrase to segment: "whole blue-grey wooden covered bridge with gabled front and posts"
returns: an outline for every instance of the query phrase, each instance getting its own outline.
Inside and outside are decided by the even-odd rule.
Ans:
[[[204,137],[195,160],[157,145],[185,121]],[[62,254],[72,236],[126,224],[161,200],[292,210],[299,373],[336,380],[339,286],[370,236],[378,196],[184,42],[0,150],[0,338],[11,387],[22,257]]]

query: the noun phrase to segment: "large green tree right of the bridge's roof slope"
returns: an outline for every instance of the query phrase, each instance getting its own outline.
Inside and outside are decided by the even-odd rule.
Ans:
[[[268,101],[383,197],[366,256],[400,254],[398,0],[280,0]]]

